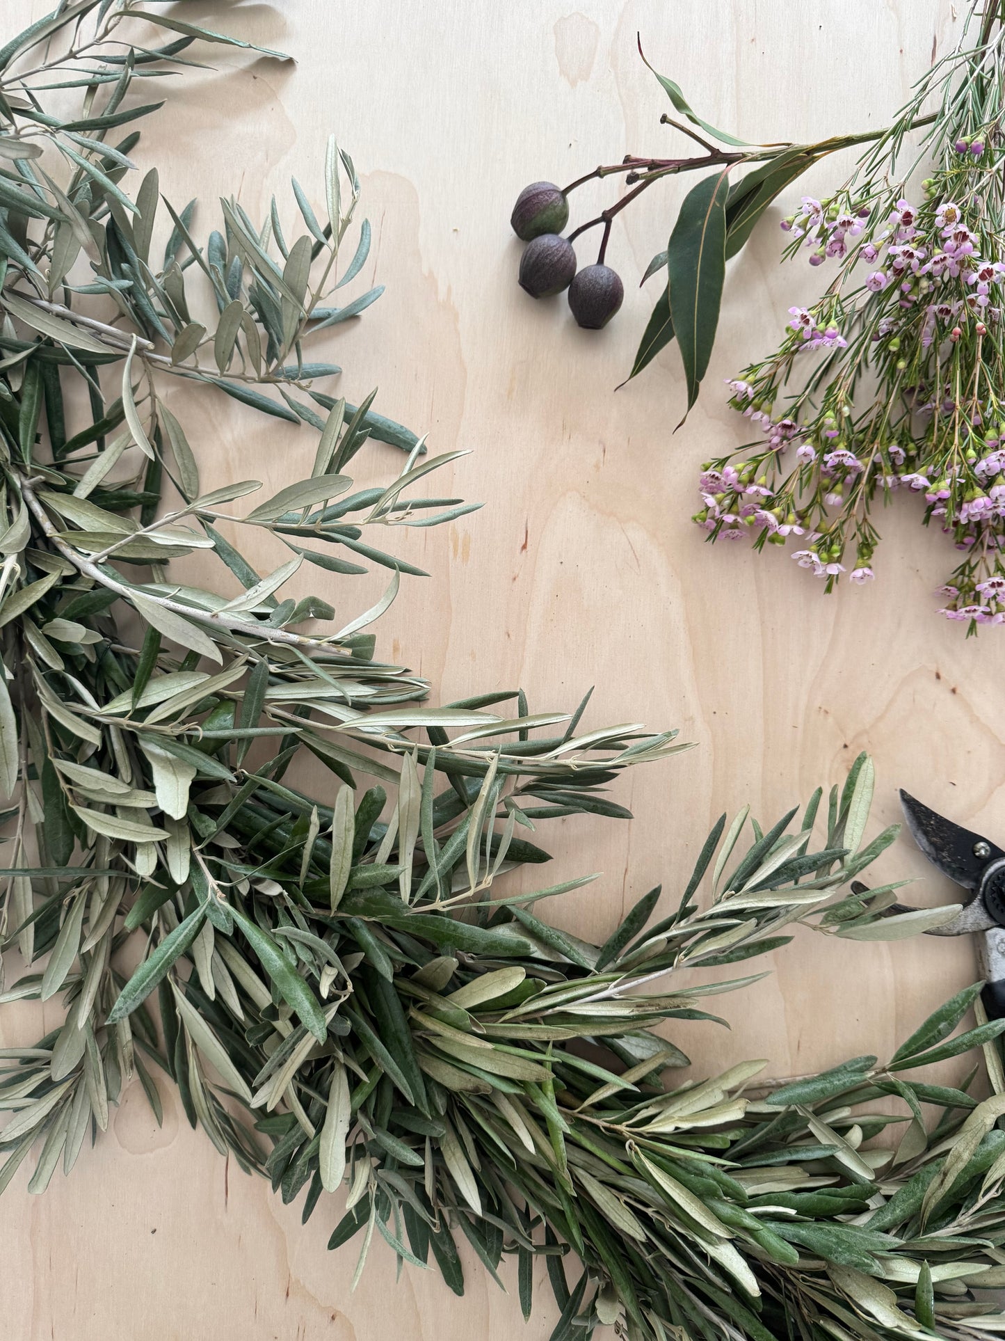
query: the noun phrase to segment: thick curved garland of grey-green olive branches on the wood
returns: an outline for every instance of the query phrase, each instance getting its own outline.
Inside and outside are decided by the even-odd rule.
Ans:
[[[895,885],[856,882],[895,837],[864,842],[868,759],[831,793],[821,839],[820,793],[766,830],[724,817],[675,909],[651,923],[650,890],[603,945],[533,911],[586,881],[500,893],[547,860],[528,837],[541,821],[626,815],[607,784],[681,747],[635,725],[578,734],[584,705],[531,715],[523,693],[423,707],[423,681],[373,660],[362,630],[413,570],[364,527],[464,504],[417,498],[446,459],[371,398],[316,390],[335,370],[304,361],[311,330],[375,296],[331,306],[368,240],[363,224],[342,270],[344,153],[330,146],[323,209],[293,185],[307,231],[291,245],[277,205],[259,225],[225,202],[201,244],[194,207],[161,200],[154,173],[126,192],[135,134],[111,131],[151,110],[131,83],[193,63],[197,40],[244,46],[174,9],[80,0],[0,50],[3,948],[25,968],[0,1000],[66,1006],[0,1054],[0,1189],[32,1148],[32,1192],[68,1172],[134,1077],[159,1118],[159,1070],[221,1152],[303,1193],[304,1219],[338,1196],[330,1246],[359,1235],[356,1278],[379,1236],[461,1293],[468,1243],[493,1275],[517,1258],[527,1314],[547,1259],[559,1338],[1000,1330],[977,1291],[1005,1282],[1005,1023],[951,1037],[977,987],[884,1066],[766,1092],[750,1090],[761,1062],[663,1081],[687,1058],[654,1026],[713,1022],[705,998],[757,976],[694,970],[776,949],[796,923],[896,937],[957,912],[898,912]],[[82,90],[74,119],[42,110],[48,87]],[[189,303],[214,303],[212,334]],[[257,485],[200,491],[168,377],[302,424],[310,479],[225,511]],[[386,488],[346,473],[367,437],[407,452]],[[221,522],[291,559],[261,577]],[[239,594],[170,581],[192,551]],[[387,594],[306,629],[334,611],[283,585],[303,562],[351,578],[358,559],[393,573]],[[289,776],[307,754],[332,775],[316,799]],[[981,1046],[981,1081],[904,1078]],[[863,1112],[872,1100],[896,1110]]]

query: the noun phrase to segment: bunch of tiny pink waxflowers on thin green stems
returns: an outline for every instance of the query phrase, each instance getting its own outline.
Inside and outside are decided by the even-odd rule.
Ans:
[[[761,437],[706,463],[694,516],[710,539],[791,543],[829,591],[874,578],[875,504],[915,496],[961,554],[941,613],[970,632],[1005,622],[1005,153],[986,113],[972,99],[954,134],[937,121],[921,204],[888,185],[894,145],[783,221],[788,255],[839,272],[728,384]]]

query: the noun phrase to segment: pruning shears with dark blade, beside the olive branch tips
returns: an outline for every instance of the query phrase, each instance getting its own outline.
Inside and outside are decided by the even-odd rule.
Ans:
[[[907,827],[921,850],[943,876],[973,896],[957,916],[929,936],[980,932],[981,992],[989,1019],[1005,1018],[1005,852],[981,834],[961,829],[921,801],[900,791]],[[891,909],[892,911],[892,909]]]

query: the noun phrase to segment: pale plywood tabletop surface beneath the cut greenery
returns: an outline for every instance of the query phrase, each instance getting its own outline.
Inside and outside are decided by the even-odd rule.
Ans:
[[[7,0],[4,38],[48,7]],[[335,130],[359,166],[375,235],[351,292],[375,282],[387,292],[319,357],[344,365],[350,400],[379,384],[386,414],[429,429],[437,451],[473,452],[454,469],[456,488],[486,506],[401,542],[431,577],[405,583],[379,650],[442,699],[523,684],[544,709],[571,707],[595,684],[590,724],[645,720],[697,742],[622,782],[631,823],[551,829],[553,878],[604,873],[553,916],[606,935],[650,885],[679,889],[722,809],[750,801],[770,821],[839,779],[863,747],[879,772],[876,827],[896,818],[895,787],[907,786],[1001,838],[1002,634],[965,642],[933,613],[953,551],[921,530],[917,500],[898,498],[882,518],[878,581],[831,598],[784,554],[706,546],[689,522],[699,463],[742,440],[722,380],[773,346],[788,306],[820,280],[800,263],[779,268],[777,213],[730,264],[706,388],[677,434],[675,349],[614,388],[655,299],[636,280],[666,245],[681,188],[657,186],[619,219],[608,261],[627,298],[600,334],[579,331],[564,299],[535,304],[517,288],[508,225],[528,181],[570,181],[626,152],[671,152],[636,31],[714,123],[768,141],[820,138],[899,106],[933,51],[955,42],[949,0],[197,0],[185,12],[283,47],[296,64],[216,50],[216,70],[184,76],[138,157],[157,160],[176,204],[206,201],[202,232],[216,197],[232,192],[260,215],[275,190],[291,217],[291,174],[319,200]],[[817,170],[813,184],[825,190],[839,169]],[[616,190],[608,181],[582,192],[576,216]],[[306,433],[222,397],[182,410],[208,484],[256,476],[277,488],[310,468]],[[379,448],[364,471],[398,465]],[[364,609],[373,591],[326,589],[318,570],[311,585],[339,613]],[[925,877],[918,901],[950,894],[910,842],[887,853],[882,873]],[[701,1073],[756,1055],[792,1074],[888,1054],[976,976],[966,941],[934,939],[867,947],[803,935],[772,967],[721,999],[732,1033],[681,1035]],[[56,1011],[58,1002],[46,1007],[50,1023]],[[5,1041],[27,1037],[27,1016],[5,1008],[1,1027]],[[134,1086],[70,1181],[56,1176],[35,1199],[23,1171],[0,1202],[5,1338],[519,1334],[515,1290],[500,1294],[477,1263],[458,1301],[434,1271],[406,1267],[395,1286],[377,1244],[350,1294],[354,1251],[326,1252],[338,1208],[322,1206],[302,1228],[299,1207],[228,1168],[161,1089],[162,1129]],[[551,1332],[544,1294],[541,1303],[528,1337]]]

